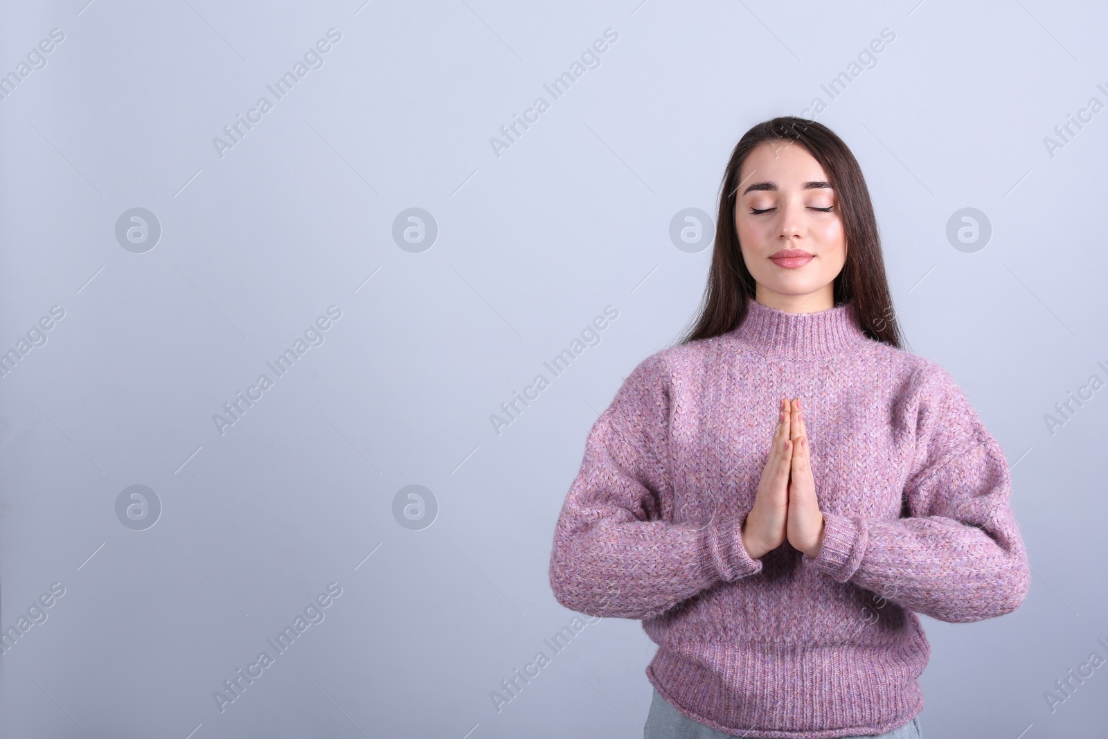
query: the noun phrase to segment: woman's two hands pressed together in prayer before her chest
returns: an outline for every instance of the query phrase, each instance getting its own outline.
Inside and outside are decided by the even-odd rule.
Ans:
[[[823,513],[815,500],[800,399],[781,399],[781,413],[753,507],[742,522],[742,545],[752,558],[789,544],[810,557],[823,543]]]

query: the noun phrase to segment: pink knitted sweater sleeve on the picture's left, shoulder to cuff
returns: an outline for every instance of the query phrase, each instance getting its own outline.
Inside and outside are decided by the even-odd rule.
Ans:
[[[669,370],[640,362],[593,424],[554,531],[558,603],[593,616],[649,618],[720,582],[761,571],[741,520],[674,523]]]

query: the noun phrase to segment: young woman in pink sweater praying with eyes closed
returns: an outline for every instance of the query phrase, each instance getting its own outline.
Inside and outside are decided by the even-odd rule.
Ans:
[[[554,595],[643,620],[646,739],[920,737],[916,613],[992,618],[1030,585],[1004,454],[952,377],[901,347],[834,133],[753,126],[718,225],[696,327],[588,433]]]

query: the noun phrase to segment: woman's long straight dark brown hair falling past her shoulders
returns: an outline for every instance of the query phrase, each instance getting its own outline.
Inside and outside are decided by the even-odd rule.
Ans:
[[[753,126],[731,152],[724,173],[711,268],[700,301],[700,315],[679,343],[733,330],[747,316],[747,301],[755,299],[756,283],[739,248],[735,207],[742,163],[755,146],[767,141],[793,142],[803,146],[823,167],[839,197],[847,261],[834,278],[834,305],[853,302],[859,322],[869,337],[902,348],[901,330],[889,296],[878,222],[862,168],[834,132],[822,123],[791,115]]]

